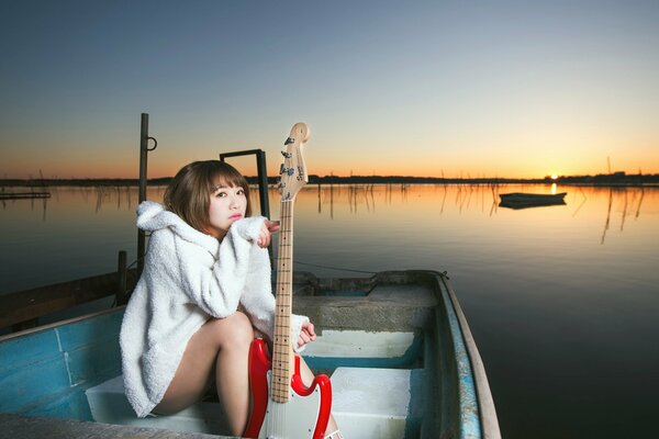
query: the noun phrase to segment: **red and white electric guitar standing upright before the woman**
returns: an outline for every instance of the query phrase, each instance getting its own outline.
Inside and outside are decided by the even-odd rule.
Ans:
[[[293,202],[309,181],[302,146],[309,139],[306,124],[297,123],[286,140],[281,175],[279,255],[277,264],[272,358],[264,339],[249,349],[249,383],[253,408],[244,436],[259,439],[323,439],[332,409],[327,375],[305,386],[300,356],[291,346],[293,279]],[[297,342],[297,340],[293,340]]]

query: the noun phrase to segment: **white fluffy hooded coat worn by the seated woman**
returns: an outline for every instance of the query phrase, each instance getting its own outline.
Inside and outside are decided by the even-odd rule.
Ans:
[[[137,416],[163,399],[188,341],[209,318],[226,317],[241,304],[272,339],[270,260],[256,245],[264,221],[237,221],[220,243],[158,203],[139,204],[137,226],[152,236],[120,334],[124,387]],[[293,316],[293,340],[305,319]]]

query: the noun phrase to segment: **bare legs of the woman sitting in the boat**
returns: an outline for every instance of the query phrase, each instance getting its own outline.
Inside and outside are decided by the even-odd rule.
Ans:
[[[215,379],[231,434],[241,436],[249,416],[249,318],[236,312],[212,318],[190,339],[157,413],[179,412],[199,401]]]

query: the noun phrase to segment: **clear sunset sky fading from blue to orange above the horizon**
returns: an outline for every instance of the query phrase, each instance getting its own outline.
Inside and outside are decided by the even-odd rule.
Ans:
[[[310,173],[659,172],[659,1],[0,7],[0,178],[149,177],[306,122]],[[238,161],[247,175],[255,173]]]

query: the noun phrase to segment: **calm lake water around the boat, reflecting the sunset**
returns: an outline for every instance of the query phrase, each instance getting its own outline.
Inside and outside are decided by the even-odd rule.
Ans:
[[[135,259],[135,188],[53,191],[0,205],[0,293]],[[656,437],[659,189],[558,188],[566,205],[517,211],[495,191],[550,188],[306,188],[297,269],[447,270],[505,438]]]

